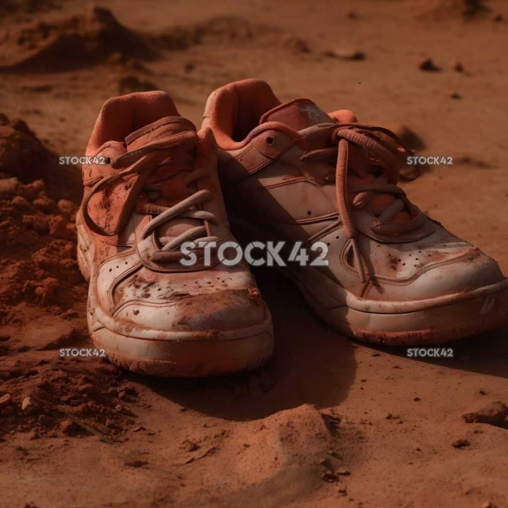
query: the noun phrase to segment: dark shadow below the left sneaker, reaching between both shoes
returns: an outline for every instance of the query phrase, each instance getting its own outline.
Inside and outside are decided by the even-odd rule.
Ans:
[[[215,378],[136,376],[136,381],[183,407],[236,421],[344,400],[355,376],[356,345],[323,323],[283,276],[267,269],[255,273],[275,332],[274,354],[266,365]]]

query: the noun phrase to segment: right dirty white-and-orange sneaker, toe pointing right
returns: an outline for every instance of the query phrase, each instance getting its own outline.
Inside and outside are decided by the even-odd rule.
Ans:
[[[397,182],[416,176],[399,172],[412,153],[390,131],[358,123],[348,110],[327,114],[308,99],[281,104],[254,79],[215,90],[206,126],[240,241],[285,240],[286,250],[323,242],[328,266],[290,262],[281,270],[339,332],[417,345],[506,321],[508,280],[493,259],[409,201]]]

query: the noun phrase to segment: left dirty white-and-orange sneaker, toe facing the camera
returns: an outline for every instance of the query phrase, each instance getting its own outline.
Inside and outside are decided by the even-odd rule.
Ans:
[[[249,267],[183,266],[187,240],[231,233],[210,129],[196,133],[169,96],[106,101],[87,147],[78,263],[88,327],[111,362],[143,374],[207,376],[255,368],[272,353],[269,310]]]

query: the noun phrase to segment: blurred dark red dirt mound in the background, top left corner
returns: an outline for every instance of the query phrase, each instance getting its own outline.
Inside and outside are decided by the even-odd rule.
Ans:
[[[108,9],[89,6],[80,14],[37,22],[8,32],[0,69],[54,72],[89,67],[113,53],[150,59],[154,50]]]

